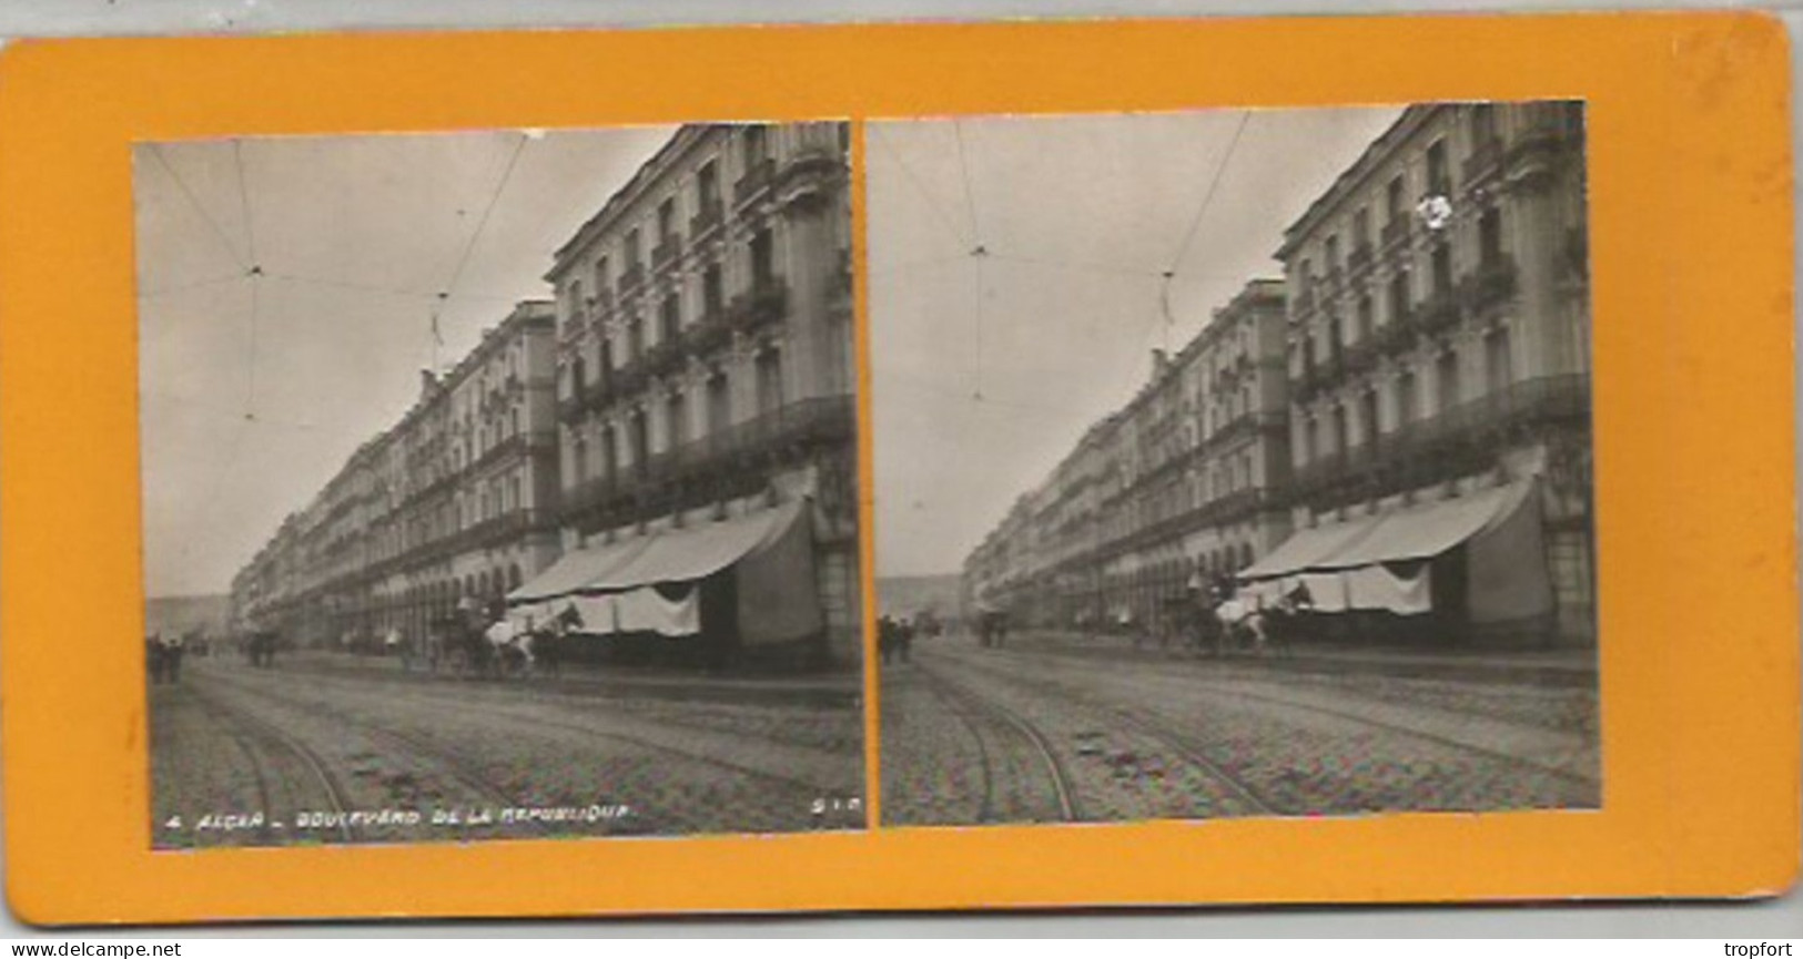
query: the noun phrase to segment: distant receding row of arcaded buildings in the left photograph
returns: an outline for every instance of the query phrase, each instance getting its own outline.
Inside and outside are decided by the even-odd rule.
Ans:
[[[555,312],[521,303],[366,442],[233,579],[234,618],[294,642],[418,638],[557,559]]]

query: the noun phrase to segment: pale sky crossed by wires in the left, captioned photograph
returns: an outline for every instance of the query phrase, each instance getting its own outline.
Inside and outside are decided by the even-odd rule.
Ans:
[[[552,251],[673,133],[141,146],[146,593],[225,591],[283,516],[411,406],[453,276],[442,366],[516,301],[550,296]]]

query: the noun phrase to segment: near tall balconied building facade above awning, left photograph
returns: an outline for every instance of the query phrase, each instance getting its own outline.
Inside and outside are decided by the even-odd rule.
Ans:
[[[725,541],[806,503],[811,555],[790,575],[808,595],[784,604],[817,606],[802,642],[840,660],[862,633],[847,137],[838,123],[685,126],[546,276],[570,568],[674,532]],[[730,566],[689,573],[714,589]],[[741,624],[721,642],[777,638]]]

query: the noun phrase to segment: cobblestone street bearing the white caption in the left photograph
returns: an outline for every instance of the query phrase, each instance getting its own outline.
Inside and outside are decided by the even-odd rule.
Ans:
[[[856,676],[474,681],[211,658],[150,703],[159,849],[864,826]]]

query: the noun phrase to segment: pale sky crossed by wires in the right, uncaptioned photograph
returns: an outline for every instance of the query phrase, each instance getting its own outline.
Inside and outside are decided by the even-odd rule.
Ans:
[[[957,571],[1399,114],[873,123],[876,573]]]

